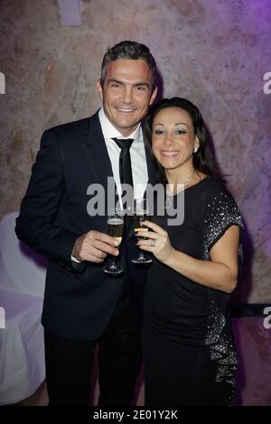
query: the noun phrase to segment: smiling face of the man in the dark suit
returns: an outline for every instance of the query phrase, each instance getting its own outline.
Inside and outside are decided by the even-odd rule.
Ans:
[[[145,117],[157,88],[152,91],[152,71],[145,60],[117,59],[107,66],[103,88],[98,94],[105,114],[119,133],[128,136]]]

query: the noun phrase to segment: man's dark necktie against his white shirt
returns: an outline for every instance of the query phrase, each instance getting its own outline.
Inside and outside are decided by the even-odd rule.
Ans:
[[[121,184],[129,184],[133,185],[133,174],[132,174],[132,166],[131,166],[131,157],[130,157],[130,147],[134,142],[133,138],[113,138],[115,143],[117,143],[118,147],[121,149],[119,155],[119,180]],[[132,207],[133,205],[126,205],[127,207]],[[126,230],[133,223],[133,217],[126,217]]]

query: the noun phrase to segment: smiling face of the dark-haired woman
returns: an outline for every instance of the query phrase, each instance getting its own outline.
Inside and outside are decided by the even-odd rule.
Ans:
[[[154,116],[152,147],[165,170],[192,164],[192,152],[199,147],[192,118],[180,107],[165,107]]]

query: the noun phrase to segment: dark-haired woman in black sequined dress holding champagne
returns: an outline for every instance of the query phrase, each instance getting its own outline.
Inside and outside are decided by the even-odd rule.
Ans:
[[[215,171],[200,111],[164,99],[145,124],[161,180],[184,195],[184,220],[154,217],[137,232],[154,254],[145,289],[145,405],[234,404],[237,356],[230,293],[238,281],[242,219]],[[184,193],[178,194],[182,184]],[[166,209],[165,209],[166,210]]]

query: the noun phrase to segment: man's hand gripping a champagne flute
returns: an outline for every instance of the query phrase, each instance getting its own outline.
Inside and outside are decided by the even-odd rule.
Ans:
[[[117,246],[116,238],[91,230],[77,239],[72,249],[72,256],[79,261],[102,263],[107,253],[118,255]]]

